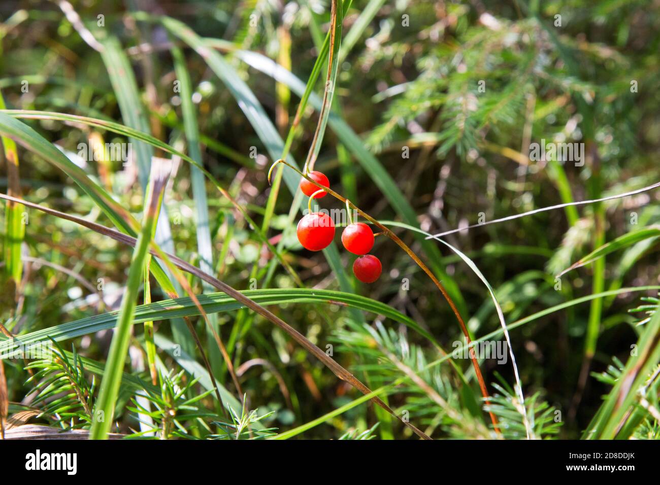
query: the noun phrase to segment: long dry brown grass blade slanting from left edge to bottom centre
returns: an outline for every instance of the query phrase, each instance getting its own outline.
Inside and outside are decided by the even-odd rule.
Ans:
[[[15,199],[14,197],[9,197],[8,195],[3,195],[3,194],[0,194],[0,198],[7,200]],[[109,238],[112,238],[117,242],[134,246],[137,241],[132,236],[128,236],[127,234],[123,234],[116,230],[110,229],[106,226],[102,226],[101,224],[96,224],[95,222],[89,222],[77,216],[72,216],[71,214],[64,214],[63,212],[59,212],[58,210],[48,209],[47,207],[42,207],[38,204],[30,203],[28,201],[23,201],[22,199],[16,199],[15,202],[22,203],[26,205],[26,207],[32,207],[33,209],[41,210],[42,212],[46,212],[47,214],[51,214],[66,220],[70,220],[72,222],[76,222],[77,224],[80,224],[81,226],[94,230],[99,234],[108,236]],[[304,335],[302,335],[302,333],[298,332],[296,329],[288,325],[288,323],[283,321],[281,318],[277,317],[268,309],[265,309],[256,302],[253,302],[247,296],[244,296],[242,293],[238,292],[237,290],[234,290],[234,288],[232,288],[228,284],[218,280],[217,278],[207,273],[204,273],[203,271],[201,271],[201,269],[191,265],[190,263],[187,263],[187,261],[183,261],[183,259],[180,259],[179,257],[176,257],[174,255],[163,253],[155,245],[152,245],[152,249],[150,249],[150,253],[158,257],[158,259],[161,259],[168,266],[170,264],[174,265],[182,269],[183,271],[186,271],[187,273],[191,273],[191,275],[195,275],[198,278],[201,278],[202,280],[209,282],[221,292],[224,292],[228,296],[231,296],[237,302],[244,304],[246,307],[248,307],[255,313],[258,313],[265,319],[271,321],[277,327],[288,333],[288,335],[290,335],[292,339],[296,340],[296,342],[298,342],[298,344],[300,344],[300,346],[302,346],[305,350],[310,352],[310,354],[314,355],[318,360],[320,360],[327,368],[329,368],[335,375],[337,375],[339,379],[343,381],[347,381],[350,385],[352,385],[353,387],[358,389],[358,391],[360,391],[365,395],[372,393],[372,391],[368,387],[366,387],[366,385],[364,385],[361,381],[359,381],[354,375],[352,375],[352,373],[348,372],[345,368],[337,364],[335,360],[327,356],[325,352],[323,352],[323,350],[321,350],[320,348],[315,346],[312,342],[310,342],[310,340],[308,340]],[[185,280],[185,278],[183,279]],[[197,298],[195,298],[192,294],[191,294],[191,299],[193,300],[193,302],[195,302],[195,305],[201,306],[199,305],[199,301],[197,301]],[[387,404],[383,403],[383,401],[381,401],[380,398],[373,397],[371,401],[381,406],[381,408],[385,409],[392,416],[395,416],[395,418],[401,421],[405,426],[413,430],[413,432],[417,436],[421,437],[422,439],[431,439],[429,436],[424,434],[424,432],[418,430],[418,428],[413,426],[413,424],[403,420],[401,416],[398,416],[389,406],[387,406]]]

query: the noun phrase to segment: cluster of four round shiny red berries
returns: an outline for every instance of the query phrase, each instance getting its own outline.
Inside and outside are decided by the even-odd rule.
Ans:
[[[321,172],[312,171],[308,174],[323,187],[330,187],[328,178]],[[325,197],[325,192],[319,192],[319,187],[307,179],[300,181],[300,190],[308,197],[314,195],[315,199]],[[298,222],[298,241],[302,247],[310,251],[321,251],[325,249],[335,238],[335,223],[327,214],[322,212],[310,212]],[[363,283],[373,283],[378,280],[383,267],[380,260],[367,254],[374,247],[374,232],[364,222],[352,222],[344,228],[341,234],[341,242],[347,251],[359,255],[353,263],[353,273]]]

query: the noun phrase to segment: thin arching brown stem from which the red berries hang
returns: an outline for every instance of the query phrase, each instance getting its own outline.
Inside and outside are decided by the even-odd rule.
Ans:
[[[483,375],[481,374],[481,370],[479,368],[479,362],[477,362],[477,356],[475,354],[475,349],[474,349],[473,346],[470,346],[470,344],[472,342],[472,339],[470,338],[470,333],[467,331],[467,327],[465,326],[465,321],[463,321],[463,317],[461,317],[461,313],[459,313],[455,303],[453,302],[453,300],[451,300],[451,296],[449,296],[449,294],[447,293],[446,288],[438,280],[438,278],[436,278],[436,275],[434,275],[433,272],[430,269],[428,269],[428,267],[422,262],[422,260],[419,259],[419,257],[417,257],[417,255],[413,252],[413,250],[410,247],[408,247],[408,245],[405,242],[403,242],[401,240],[401,238],[399,238],[399,236],[394,234],[391,230],[389,230],[389,228],[383,226],[383,224],[378,222],[378,220],[374,219],[372,216],[370,216],[369,214],[364,212],[364,210],[360,209],[354,203],[348,201],[348,199],[346,199],[345,197],[343,197],[339,193],[333,191],[333,189],[331,189],[329,187],[324,187],[323,185],[320,185],[319,183],[316,183],[316,181],[314,179],[306,176],[305,174],[300,172],[300,170],[298,170],[296,167],[292,166],[291,164],[289,164],[288,162],[282,160],[281,158],[279,160],[277,160],[273,164],[273,166],[271,166],[271,171],[273,170],[273,167],[275,167],[279,163],[282,163],[282,164],[292,168],[293,170],[298,172],[298,174],[300,174],[300,176],[302,176],[302,177],[306,178],[308,181],[314,183],[314,185],[319,187],[319,189],[323,189],[325,192],[327,192],[330,195],[332,195],[333,197],[335,197],[335,199],[338,199],[339,201],[341,201],[343,203],[346,203],[347,207],[350,206],[353,209],[357,210],[357,212],[362,217],[364,217],[369,222],[372,222],[372,224],[374,224],[374,226],[378,227],[381,230],[383,235],[387,236],[388,238],[393,240],[395,243],[397,243],[399,245],[399,247],[401,247],[401,249],[403,249],[411,257],[411,259],[413,259],[413,261],[418,265],[418,267],[420,267],[422,269],[422,271],[424,271],[424,273],[426,273],[426,275],[428,275],[428,277],[431,278],[431,280],[434,282],[434,284],[438,287],[438,290],[440,290],[440,292],[442,293],[442,296],[444,296],[445,300],[447,300],[447,303],[449,304],[449,307],[451,307],[451,311],[453,311],[453,314],[455,315],[456,319],[458,320],[459,325],[461,326],[461,331],[463,331],[463,335],[465,335],[465,339],[467,340],[467,344],[469,345],[470,360],[472,361],[472,365],[475,368],[475,375],[477,375],[477,381],[479,381],[479,388],[481,390],[481,394],[483,395],[484,401],[486,402],[486,404],[490,404],[490,395],[488,395],[488,389],[486,389],[486,383],[484,381]],[[269,180],[270,180],[270,178],[269,178]],[[493,424],[496,432],[499,433],[500,429],[498,427],[497,418],[492,413],[492,411],[488,411],[488,414],[490,415],[490,420],[492,421],[492,424]]]

